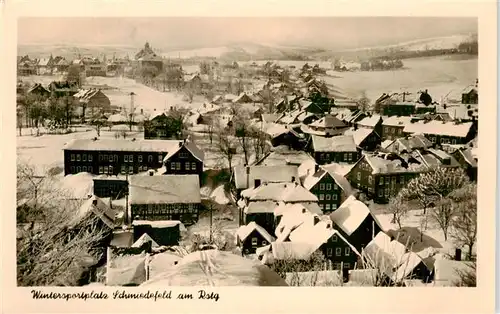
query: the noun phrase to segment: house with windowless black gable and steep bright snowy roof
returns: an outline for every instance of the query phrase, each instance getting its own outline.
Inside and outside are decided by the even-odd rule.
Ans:
[[[352,195],[330,214],[330,219],[335,228],[358,251],[366,247],[375,235],[382,231],[380,222],[368,206]]]

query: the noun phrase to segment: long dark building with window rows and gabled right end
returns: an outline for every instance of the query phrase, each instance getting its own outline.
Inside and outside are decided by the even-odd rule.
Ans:
[[[73,139],[63,151],[65,175],[136,174],[163,165],[167,166],[167,174],[203,172],[204,154],[190,141]]]

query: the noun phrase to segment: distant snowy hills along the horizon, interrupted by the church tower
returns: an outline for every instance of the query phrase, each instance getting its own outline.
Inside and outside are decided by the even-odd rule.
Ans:
[[[427,55],[447,54],[451,50],[458,50],[461,45],[467,44],[464,49],[468,53],[477,53],[477,34],[458,34],[453,36],[424,38],[392,45],[365,47],[347,50],[331,50],[321,47],[297,47],[274,45],[269,43],[234,43],[218,47],[199,48],[171,48],[156,50],[165,58],[200,59],[217,58],[227,60],[331,60],[333,58],[347,58],[351,60],[366,60],[380,57],[413,58]],[[475,48],[474,48],[475,47]],[[19,45],[19,55],[46,57],[62,55],[67,58],[76,58],[81,55],[107,55],[133,57],[140,47],[131,46],[103,46],[103,45]],[[475,49],[475,50],[474,50]],[[464,52],[464,51],[462,51]]]

